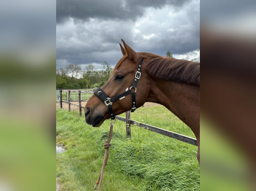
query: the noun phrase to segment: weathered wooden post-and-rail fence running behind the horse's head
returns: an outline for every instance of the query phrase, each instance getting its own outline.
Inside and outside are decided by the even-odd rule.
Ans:
[[[68,101],[62,100],[62,97],[63,97],[62,92],[67,92],[68,93],[68,95],[66,95],[67,98],[68,98]],[[70,98],[70,93],[71,92],[78,92],[79,105],[71,103],[71,98]],[[93,91],[84,91],[84,90],[58,90],[58,91],[56,91],[56,101],[59,101],[59,108],[62,108],[62,102],[65,102],[65,103],[69,104],[69,111],[70,111],[70,105],[75,105],[75,106],[79,107],[79,115],[81,116],[82,115],[82,108],[84,108],[84,106],[82,106],[81,93],[93,94]],[[185,136],[185,135],[181,135],[179,133],[175,133],[175,132],[172,132],[172,131],[168,131],[168,130],[161,129],[161,128],[158,128],[158,127],[155,127],[155,126],[151,126],[151,125],[148,125],[148,124],[144,124],[144,123],[140,123],[138,121],[131,120],[130,111],[126,111],[125,116],[126,116],[125,118],[120,117],[120,116],[116,116],[116,119],[126,122],[126,137],[127,138],[131,137],[131,124],[132,124],[132,125],[136,125],[138,127],[141,127],[141,128],[144,128],[144,129],[156,132],[156,133],[160,133],[162,135],[165,135],[165,136],[168,136],[168,137],[171,137],[171,138],[174,138],[174,139],[177,139],[177,140],[180,140],[180,141],[198,146],[197,139],[195,139],[195,138],[188,137],[188,136]]]

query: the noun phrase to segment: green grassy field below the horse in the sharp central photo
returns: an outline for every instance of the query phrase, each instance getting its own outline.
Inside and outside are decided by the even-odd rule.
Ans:
[[[138,108],[131,113],[131,119],[195,137],[163,106]],[[87,125],[78,111],[56,109],[56,140],[68,149],[56,155],[56,176],[62,191],[93,190],[101,171],[108,132],[109,120],[96,128]],[[125,123],[118,120],[111,144],[102,190],[200,189],[196,146],[136,126],[131,126],[131,138],[127,139]]]

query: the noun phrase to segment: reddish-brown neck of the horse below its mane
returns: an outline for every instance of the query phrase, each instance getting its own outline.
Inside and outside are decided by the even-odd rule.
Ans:
[[[147,99],[164,105],[200,136],[200,91],[198,86],[155,81]]]

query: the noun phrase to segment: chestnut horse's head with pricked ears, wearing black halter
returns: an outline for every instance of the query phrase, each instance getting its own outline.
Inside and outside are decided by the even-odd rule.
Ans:
[[[109,80],[85,105],[85,120],[99,127],[105,119],[143,105],[150,92],[150,81],[143,60],[124,40],[120,45],[123,57],[116,64]]]

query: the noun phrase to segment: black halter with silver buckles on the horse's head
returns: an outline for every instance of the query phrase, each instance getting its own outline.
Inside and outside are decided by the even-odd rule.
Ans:
[[[141,66],[142,66],[142,60],[143,58],[141,59],[139,65],[138,65],[138,68],[137,68],[137,71],[136,71],[136,74],[135,74],[135,78],[133,80],[133,83],[132,83],[132,86],[130,87],[130,89],[126,89],[126,91],[120,95],[117,95],[115,97],[112,97],[110,98],[102,89],[100,88],[95,88],[93,91],[94,91],[94,94],[99,97],[100,100],[102,100],[105,105],[108,107],[109,109],[109,113],[110,113],[110,116],[111,116],[111,119],[114,119],[115,118],[115,114],[114,114],[114,111],[112,109],[112,104],[113,102],[117,101],[118,99],[123,99],[126,95],[128,94],[131,94],[132,95],[132,109],[131,109],[131,112],[134,112],[135,109],[136,109],[136,99],[135,99],[135,93],[137,91],[136,89],[136,86],[137,86],[137,83],[140,79],[140,76],[141,76]],[[131,91],[131,89],[134,89],[134,92]]]

